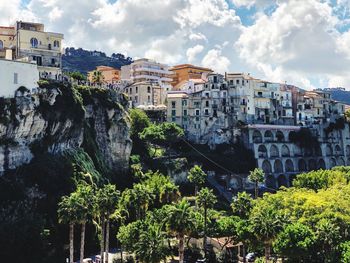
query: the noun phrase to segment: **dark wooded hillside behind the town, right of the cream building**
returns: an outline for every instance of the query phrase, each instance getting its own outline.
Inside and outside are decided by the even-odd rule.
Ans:
[[[129,65],[131,62],[132,58],[125,57],[120,53],[113,53],[112,56],[108,57],[101,51],[89,51],[73,47],[66,48],[62,56],[64,71],[79,71],[83,74],[94,70],[97,66],[103,65],[120,69],[121,66]]]

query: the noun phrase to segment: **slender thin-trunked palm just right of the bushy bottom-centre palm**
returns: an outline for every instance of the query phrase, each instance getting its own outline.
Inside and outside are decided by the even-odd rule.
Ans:
[[[204,211],[204,237],[203,237],[203,247],[204,253],[207,255],[207,212],[208,209],[213,208],[215,203],[217,202],[216,196],[213,191],[208,188],[203,188],[199,191],[196,201],[198,203],[198,207],[203,207]]]

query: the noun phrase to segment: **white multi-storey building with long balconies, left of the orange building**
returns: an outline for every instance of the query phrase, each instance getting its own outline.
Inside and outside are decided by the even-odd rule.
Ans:
[[[134,83],[149,82],[158,84],[165,90],[171,88],[171,71],[166,64],[142,58],[127,66],[121,67],[121,79]]]

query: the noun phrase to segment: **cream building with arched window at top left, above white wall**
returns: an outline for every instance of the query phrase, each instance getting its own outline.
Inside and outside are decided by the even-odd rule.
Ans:
[[[46,32],[43,24],[22,21],[16,22],[14,27],[0,27],[0,32],[1,58],[35,61],[42,77],[59,77],[63,34]],[[6,56],[6,50],[12,54]]]

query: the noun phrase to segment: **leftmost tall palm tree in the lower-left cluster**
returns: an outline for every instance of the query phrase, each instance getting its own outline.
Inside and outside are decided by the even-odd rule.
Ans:
[[[74,262],[74,224],[78,222],[77,210],[79,199],[75,193],[63,196],[58,204],[58,220],[69,224],[69,262]]]

